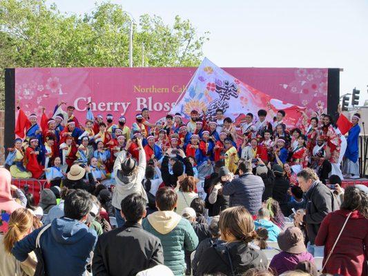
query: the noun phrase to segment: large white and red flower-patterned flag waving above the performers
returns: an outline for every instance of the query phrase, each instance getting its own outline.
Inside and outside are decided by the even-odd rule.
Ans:
[[[217,108],[224,110],[226,117],[234,121],[242,120],[244,114],[251,112],[255,117],[260,109],[267,110],[269,120],[278,110],[284,110],[287,116],[284,124],[296,126],[300,122],[300,106],[285,103],[236,79],[209,59],[204,58],[186,90],[179,97],[171,114],[181,113],[190,118],[191,110],[206,110],[207,117],[215,117]]]

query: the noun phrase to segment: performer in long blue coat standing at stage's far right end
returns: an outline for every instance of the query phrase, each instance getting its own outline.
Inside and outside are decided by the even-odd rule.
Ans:
[[[342,172],[345,173],[347,178],[358,179],[359,173],[359,147],[358,139],[360,134],[359,126],[360,114],[356,113],[351,118],[353,126],[349,130],[349,136],[347,137],[347,150],[345,151],[345,162],[342,167]]]

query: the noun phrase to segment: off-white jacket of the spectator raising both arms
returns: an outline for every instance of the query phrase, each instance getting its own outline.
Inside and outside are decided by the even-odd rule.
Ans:
[[[113,193],[112,204],[119,210],[122,208],[120,206],[120,204],[122,204],[122,200],[133,193],[142,195],[142,197],[144,197],[148,202],[146,191],[142,185],[142,180],[146,172],[146,153],[144,150],[139,150],[138,166],[129,176],[125,176],[122,173],[122,162],[124,159],[126,159],[126,150],[119,152],[114,163],[116,186]]]

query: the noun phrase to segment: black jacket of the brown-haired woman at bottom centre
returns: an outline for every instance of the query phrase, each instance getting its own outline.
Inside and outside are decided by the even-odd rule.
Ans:
[[[231,271],[231,264],[233,273]],[[267,257],[261,250],[252,248],[244,242],[231,242],[208,248],[200,257],[197,275],[224,273],[240,275],[250,268],[267,269]]]

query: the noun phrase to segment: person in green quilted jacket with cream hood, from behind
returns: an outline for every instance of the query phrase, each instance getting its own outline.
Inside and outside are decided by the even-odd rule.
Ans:
[[[148,215],[142,226],[144,230],[161,240],[164,265],[168,266],[174,275],[184,275],[186,270],[184,250],[195,250],[198,237],[189,221],[174,212],[176,204],[177,194],[171,188],[157,190],[158,211]]]

